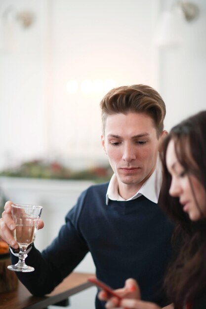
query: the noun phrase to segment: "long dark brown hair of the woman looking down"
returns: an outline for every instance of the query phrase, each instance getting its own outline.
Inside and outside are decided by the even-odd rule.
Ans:
[[[171,140],[189,179],[190,175],[195,176],[206,190],[206,111],[174,126],[162,144],[163,185],[159,203],[176,223],[174,241],[179,241],[181,235],[178,256],[168,269],[165,286],[170,300],[181,308],[185,301],[193,301],[204,291],[206,293],[206,219],[192,222],[183,211],[179,198],[168,194],[171,176],[165,157]]]

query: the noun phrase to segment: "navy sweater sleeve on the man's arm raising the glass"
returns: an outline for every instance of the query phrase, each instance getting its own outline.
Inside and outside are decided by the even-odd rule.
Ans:
[[[33,272],[17,272],[19,280],[27,289],[36,296],[50,293],[74,268],[82,261],[88,247],[81,232],[73,223],[75,214],[76,222],[81,214],[83,196],[66,216],[66,224],[62,226],[58,236],[42,251],[34,246],[29,252],[26,264],[33,266]],[[18,258],[11,254],[12,263],[17,263]]]

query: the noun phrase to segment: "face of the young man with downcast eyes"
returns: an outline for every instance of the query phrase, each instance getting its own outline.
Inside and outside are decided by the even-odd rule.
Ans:
[[[159,139],[153,119],[137,113],[107,116],[102,145],[117,176],[120,195],[131,197],[156,166]]]

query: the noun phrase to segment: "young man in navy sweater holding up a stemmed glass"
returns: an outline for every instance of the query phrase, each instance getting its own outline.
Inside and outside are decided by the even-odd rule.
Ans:
[[[133,277],[143,300],[163,306],[162,281],[173,232],[158,206],[165,103],[153,88],[133,85],[111,90],[100,105],[102,145],[114,175],[110,183],[80,195],[50,246],[42,253],[34,245],[30,249],[27,263],[35,271],[18,277],[34,295],[49,293],[90,251],[100,280],[116,289]],[[16,248],[10,208],[7,202],[0,236]],[[96,299],[96,309],[102,308]]]

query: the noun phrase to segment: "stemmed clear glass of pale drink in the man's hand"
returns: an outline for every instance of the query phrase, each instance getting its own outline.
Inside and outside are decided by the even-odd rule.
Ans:
[[[27,204],[11,204],[11,216],[16,225],[14,239],[19,245],[19,261],[15,265],[9,265],[9,270],[30,272],[34,267],[25,264],[27,247],[34,242],[38,230],[38,221],[41,216],[42,206]]]

